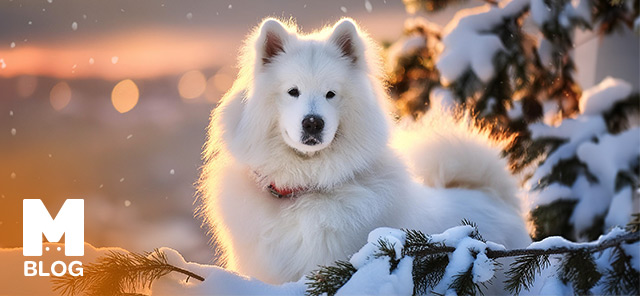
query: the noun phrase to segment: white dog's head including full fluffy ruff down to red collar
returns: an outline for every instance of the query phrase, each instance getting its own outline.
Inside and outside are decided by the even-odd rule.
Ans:
[[[299,176],[323,183],[318,179],[331,175],[325,170],[337,179],[353,174],[387,139],[386,97],[371,47],[350,19],[309,35],[264,20],[247,39],[211,136],[270,177],[288,173],[287,183],[304,182],[289,182]]]

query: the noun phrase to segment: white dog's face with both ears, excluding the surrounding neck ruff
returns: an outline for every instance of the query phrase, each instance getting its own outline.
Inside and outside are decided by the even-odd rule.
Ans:
[[[351,89],[353,76],[366,66],[364,44],[352,21],[340,21],[325,35],[306,39],[267,19],[256,41],[255,70],[273,84],[282,139],[305,154],[331,145],[348,104],[344,101],[360,95]]]

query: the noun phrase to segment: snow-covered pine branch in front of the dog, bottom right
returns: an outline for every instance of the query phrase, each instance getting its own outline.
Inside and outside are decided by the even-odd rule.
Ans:
[[[616,228],[590,243],[550,237],[526,249],[506,250],[485,242],[472,223],[436,235],[379,228],[350,262],[309,275],[307,294],[476,295],[495,280],[500,269],[495,260],[504,257],[515,257],[505,279],[513,294],[560,286],[561,294],[637,294],[639,240],[639,232]]]

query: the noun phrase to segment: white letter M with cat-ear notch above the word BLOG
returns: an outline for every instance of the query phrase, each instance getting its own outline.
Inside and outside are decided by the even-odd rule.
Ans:
[[[22,200],[22,255],[42,256],[42,235],[50,243],[65,235],[64,254],[84,255],[84,200],[67,199],[55,219],[39,199]]]

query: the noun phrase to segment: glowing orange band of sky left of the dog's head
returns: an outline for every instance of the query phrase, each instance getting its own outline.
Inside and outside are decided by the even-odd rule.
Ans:
[[[112,33],[62,44],[18,45],[0,50],[0,77],[44,75],[65,79],[148,78],[233,61],[239,44],[222,32],[153,28]]]

